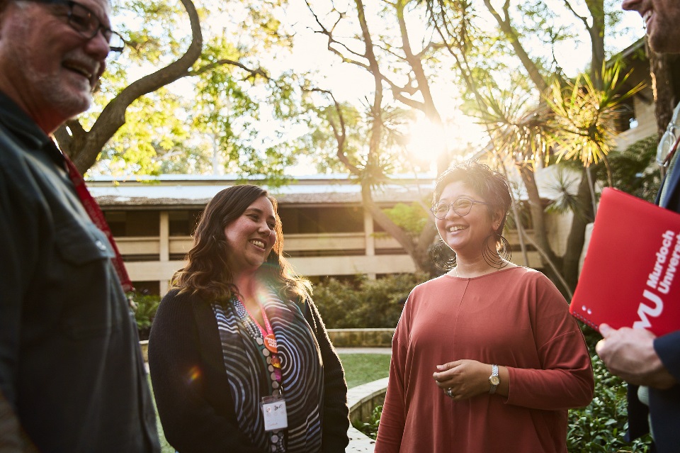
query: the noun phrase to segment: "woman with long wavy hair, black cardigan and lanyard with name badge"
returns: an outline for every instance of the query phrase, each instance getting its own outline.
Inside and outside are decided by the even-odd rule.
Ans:
[[[344,452],[347,386],[309,282],[258,186],[205,207],[149,337],[166,439],[190,452]]]

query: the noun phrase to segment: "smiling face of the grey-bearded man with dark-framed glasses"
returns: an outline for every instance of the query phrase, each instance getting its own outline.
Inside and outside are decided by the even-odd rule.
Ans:
[[[108,0],[79,0],[108,28]],[[101,33],[83,38],[68,23],[68,6],[11,3],[0,18],[0,89],[45,133],[89,108],[106,67]]]

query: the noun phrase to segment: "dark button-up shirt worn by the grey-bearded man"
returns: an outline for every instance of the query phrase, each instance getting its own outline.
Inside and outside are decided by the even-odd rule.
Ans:
[[[0,93],[1,426],[24,451],[159,452],[112,256],[54,142]]]

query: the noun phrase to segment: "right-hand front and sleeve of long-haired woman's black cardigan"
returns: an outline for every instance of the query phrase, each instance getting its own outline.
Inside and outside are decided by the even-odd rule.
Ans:
[[[344,452],[349,443],[349,410],[345,372],[335,348],[331,345],[326,327],[312,301],[305,303],[305,318],[314,330],[324,361],[324,453]]]

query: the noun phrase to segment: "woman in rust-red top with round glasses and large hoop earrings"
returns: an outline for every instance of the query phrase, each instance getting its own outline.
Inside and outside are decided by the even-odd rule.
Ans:
[[[591,359],[555,285],[504,256],[505,177],[453,167],[433,202],[455,267],[404,305],[375,453],[566,453],[567,410],[593,398]]]

